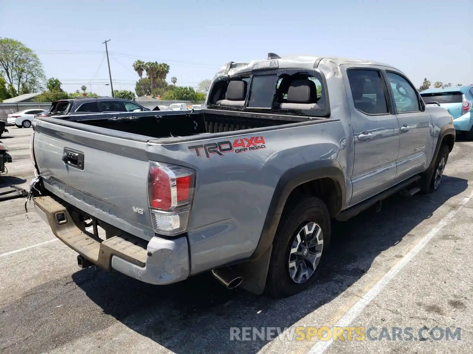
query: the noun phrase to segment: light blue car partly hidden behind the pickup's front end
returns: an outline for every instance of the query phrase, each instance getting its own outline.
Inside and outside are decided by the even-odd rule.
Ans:
[[[473,139],[473,84],[466,86],[427,89],[420,93],[425,103],[438,103],[453,116],[457,132]]]

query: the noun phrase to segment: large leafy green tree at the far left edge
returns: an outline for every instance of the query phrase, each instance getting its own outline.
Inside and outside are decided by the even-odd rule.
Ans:
[[[0,38],[0,75],[17,93],[23,84],[30,91],[38,91],[45,81],[43,64],[36,54],[11,38]]]

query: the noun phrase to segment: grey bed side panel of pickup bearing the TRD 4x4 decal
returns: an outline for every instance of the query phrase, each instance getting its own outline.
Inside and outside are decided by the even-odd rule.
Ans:
[[[334,160],[346,180],[346,135],[339,120],[238,133],[148,146],[149,160],[197,172],[188,231],[191,274],[254,253],[274,190],[286,170],[314,160]]]

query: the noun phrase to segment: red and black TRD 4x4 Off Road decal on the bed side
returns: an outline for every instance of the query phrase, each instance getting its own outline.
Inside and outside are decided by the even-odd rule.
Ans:
[[[229,140],[220,141],[217,143],[208,143],[201,145],[192,145],[187,147],[189,150],[194,150],[198,157],[201,157],[201,149],[203,149],[205,156],[210,159],[212,154],[223,156],[226,152],[235,152],[237,154],[242,152],[251,152],[254,150],[265,149],[263,136],[251,136],[249,138],[236,139],[233,143]]]

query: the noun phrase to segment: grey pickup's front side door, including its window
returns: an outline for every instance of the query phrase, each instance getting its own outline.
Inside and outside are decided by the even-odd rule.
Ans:
[[[432,154],[432,120],[419,93],[402,73],[389,70],[385,76],[399,122],[397,182],[427,168]]]

